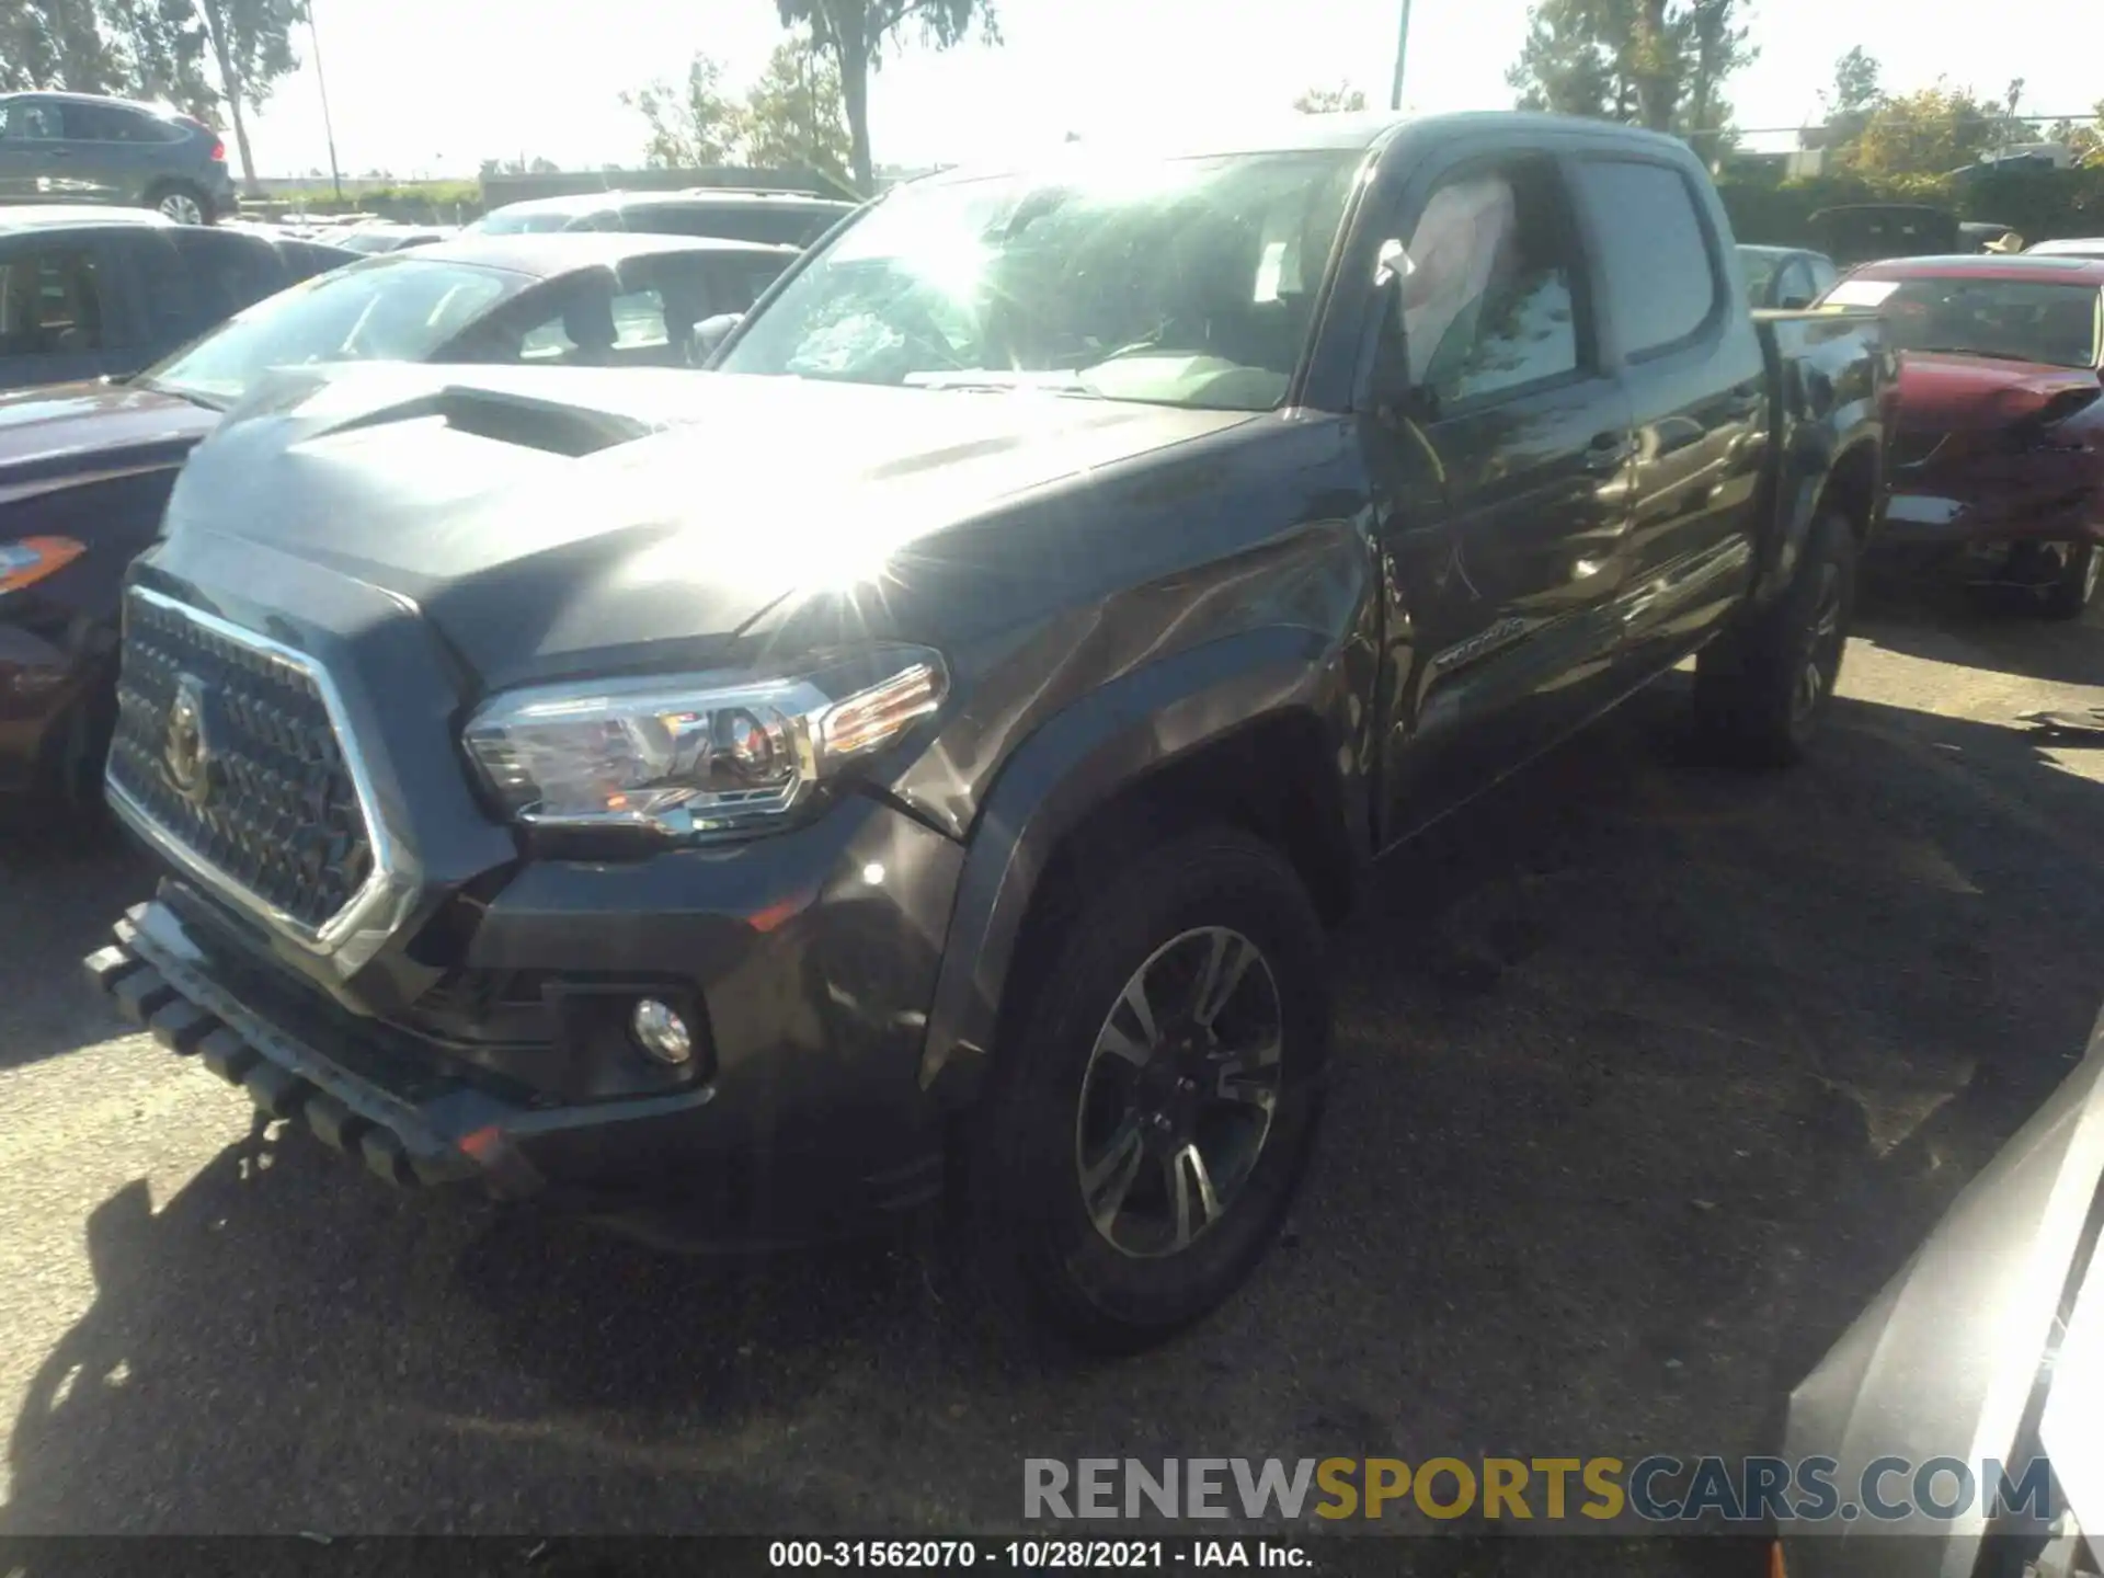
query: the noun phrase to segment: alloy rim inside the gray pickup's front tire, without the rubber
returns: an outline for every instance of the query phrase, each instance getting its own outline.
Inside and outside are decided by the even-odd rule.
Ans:
[[[1281,1052],[1279,985],[1241,932],[1185,932],[1132,974],[1075,1117],[1081,1206],[1113,1250],[1178,1254],[1233,1210],[1271,1136]]]

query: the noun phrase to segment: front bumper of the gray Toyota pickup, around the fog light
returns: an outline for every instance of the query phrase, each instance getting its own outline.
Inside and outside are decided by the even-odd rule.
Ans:
[[[945,1094],[919,1052],[962,865],[892,808],[846,821],[770,852],[795,892],[760,913],[696,903],[713,873],[680,856],[522,867],[482,905],[463,962],[501,957],[539,983],[543,1008],[505,1023],[539,1012],[545,1041],[351,1012],[177,879],[86,968],[162,1046],[385,1182],[534,1199],[682,1248],[829,1237],[940,1189]],[[806,886],[844,852],[844,884]],[[608,985],[614,959],[625,978]],[[650,1067],[623,1039],[640,995],[692,1018],[690,1069]]]

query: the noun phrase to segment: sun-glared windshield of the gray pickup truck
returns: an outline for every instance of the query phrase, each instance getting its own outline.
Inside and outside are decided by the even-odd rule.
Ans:
[[[1357,164],[1258,154],[901,187],[720,366],[1269,410],[1300,362]]]

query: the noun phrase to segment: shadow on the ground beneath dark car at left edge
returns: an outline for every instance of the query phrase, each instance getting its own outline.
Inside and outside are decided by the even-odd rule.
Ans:
[[[0,825],[0,1069],[130,1029],[80,959],[151,892],[151,867],[107,825]]]

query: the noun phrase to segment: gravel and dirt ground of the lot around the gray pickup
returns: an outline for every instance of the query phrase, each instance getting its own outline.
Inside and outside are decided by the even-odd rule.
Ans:
[[[1159,1355],[1018,1355],[911,1237],[661,1258],[274,1142],[76,959],[149,877],[0,844],[4,1532],[959,1532],[1025,1456],[1748,1452],[2104,997],[2104,631],[1885,600],[1822,757],[1677,684],[1338,938],[1286,1246]]]

